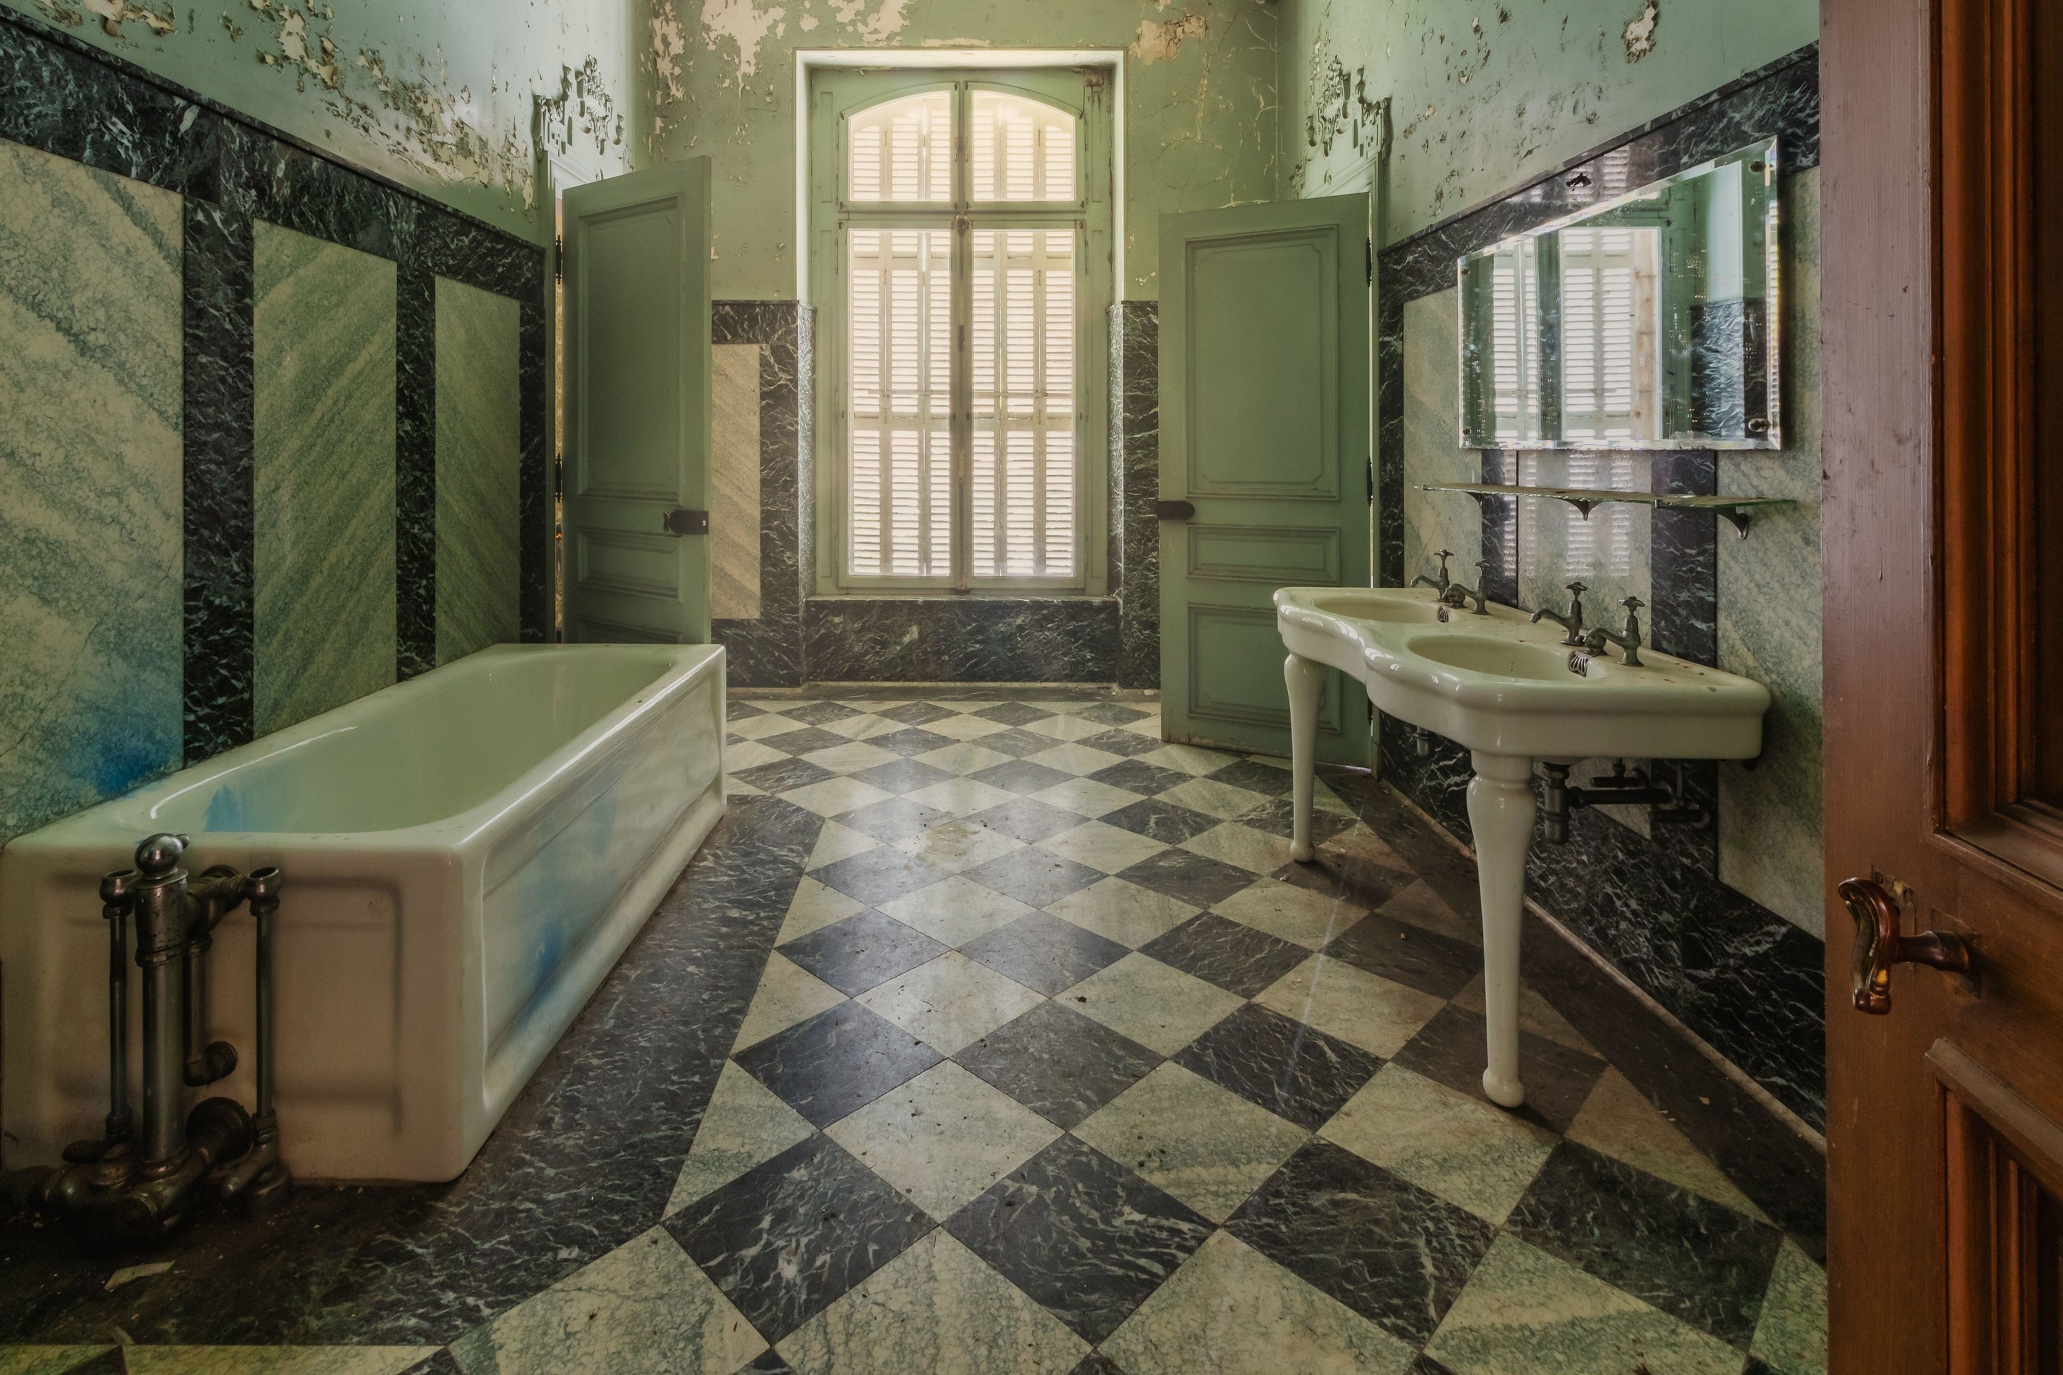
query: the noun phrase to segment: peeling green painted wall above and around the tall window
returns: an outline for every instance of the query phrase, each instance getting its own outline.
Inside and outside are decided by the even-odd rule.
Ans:
[[[796,47],[1124,49],[1124,268],[1153,299],[1159,216],[1273,200],[1263,0],[642,0],[637,159],[716,159],[716,295],[794,295]]]

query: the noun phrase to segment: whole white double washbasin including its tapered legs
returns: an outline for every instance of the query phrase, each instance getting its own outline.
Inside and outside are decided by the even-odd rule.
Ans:
[[[1560,610],[1560,608],[1558,608]],[[1619,629],[1624,610],[1601,625]],[[1312,860],[1312,744],[1324,668],[1368,686],[1368,701],[1469,746],[1469,829],[1483,895],[1483,1091],[1525,1103],[1518,1078],[1518,917],[1533,845],[1533,761],[1751,759],[1762,752],[1760,682],[1640,649],[1572,651],[1562,627],[1510,606],[1487,614],[1442,606],[1430,588],[1283,588],[1275,627],[1289,658],[1289,752],[1296,765],[1289,853]]]

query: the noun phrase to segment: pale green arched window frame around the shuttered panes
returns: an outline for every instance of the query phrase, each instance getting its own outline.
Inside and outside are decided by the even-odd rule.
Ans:
[[[815,596],[1106,596],[1110,528],[1110,311],[1114,291],[1114,93],[1116,72],[1102,64],[1025,68],[813,68],[809,72],[807,212],[809,299],[817,305],[815,392]],[[893,202],[848,196],[846,130],[854,115],[887,101],[951,91],[951,198]],[[1067,200],[972,200],[970,140],[976,91],[998,91],[1056,107],[1075,120],[1075,167],[1081,196]],[[959,227],[965,225],[961,233]],[[953,536],[947,577],[856,575],[848,555],[848,470],[852,421],[848,388],[848,239],[852,229],[947,229],[955,324],[972,322],[976,231],[1075,231],[1075,575],[976,577],[970,344],[955,342],[951,385]]]

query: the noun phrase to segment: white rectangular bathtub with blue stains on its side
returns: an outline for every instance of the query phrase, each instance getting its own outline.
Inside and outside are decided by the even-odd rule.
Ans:
[[[289,1167],[452,1179],[716,825],[722,750],[720,645],[497,645],[17,837],[0,851],[6,1167],[99,1136],[99,876],[177,831],[188,872],[285,872]],[[256,1099],[254,944],[248,911],[217,930],[212,1037],[241,1064],[194,1099]],[[130,1000],[134,1074],[134,971]]]

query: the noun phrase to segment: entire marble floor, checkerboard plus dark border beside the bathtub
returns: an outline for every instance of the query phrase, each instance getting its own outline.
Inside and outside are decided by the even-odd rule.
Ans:
[[[262,1313],[151,1293],[233,1225],[107,1295],[37,1262],[0,1375],[1826,1369],[1774,1194],[1533,992],[1492,1107],[1454,874],[1322,783],[1289,864],[1283,761],[1108,695],[745,699],[728,750],[724,837],[466,1177],[303,1192]],[[173,1344],[76,1344],[124,1311]]]

